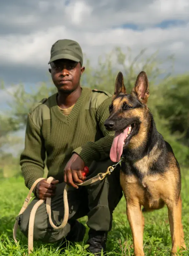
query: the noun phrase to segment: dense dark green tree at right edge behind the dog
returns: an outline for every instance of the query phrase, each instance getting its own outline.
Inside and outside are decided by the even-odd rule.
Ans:
[[[173,77],[162,88],[162,103],[157,106],[160,115],[168,120],[172,134],[179,133],[179,141],[189,146],[189,75]]]

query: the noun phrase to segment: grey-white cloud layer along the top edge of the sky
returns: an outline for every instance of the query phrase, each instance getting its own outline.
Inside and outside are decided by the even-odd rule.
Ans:
[[[123,23],[149,26],[164,19],[188,20],[189,13],[188,0],[72,0],[67,6],[63,0],[33,0],[28,5],[21,2],[7,5],[0,16],[1,24],[34,26],[38,30],[60,24],[74,29],[79,22],[80,30],[96,31]]]

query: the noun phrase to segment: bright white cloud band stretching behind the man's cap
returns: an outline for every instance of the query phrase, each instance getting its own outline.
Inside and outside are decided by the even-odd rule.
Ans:
[[[160,54],[175,54],[185,58],[189,42],[189,23],[185,26],[168,29],[148,28],[142,31],[132,29],[101,29],[99,32],[72,32],[64,26],[36,31],[30,35],[7,36],[0,39],[0,56],[4,62],[24,65],[46,66],[50,57],[51,45],[60,38],[79,41],[83,51],[92,61],[99,54],[110,51],[112,47],[129,46],[136,54],[142,48],[149,52],[160,50]],[[14,45],[14,47],[12,47]],[[182,63],[178,63],[182,65]]]

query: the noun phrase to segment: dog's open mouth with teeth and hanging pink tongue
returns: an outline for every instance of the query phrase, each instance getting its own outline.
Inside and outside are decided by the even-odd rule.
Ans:
[[[113,143],[110,149],[110,159],[113,162],[119,162],[123,153],[123,147],[126,147],[134,135],[136,123],[127,126],[123,131],[115,132]]]

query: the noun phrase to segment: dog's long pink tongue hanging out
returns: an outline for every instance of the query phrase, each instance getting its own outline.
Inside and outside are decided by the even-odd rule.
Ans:
[[[125,138],[127,137],[128,129],[129,127],[127,127],[122,133],[115,132],[113,143],[110,149],[110,159],[112,162],[120,161],[121,155],[123,153],[123,144]]]

